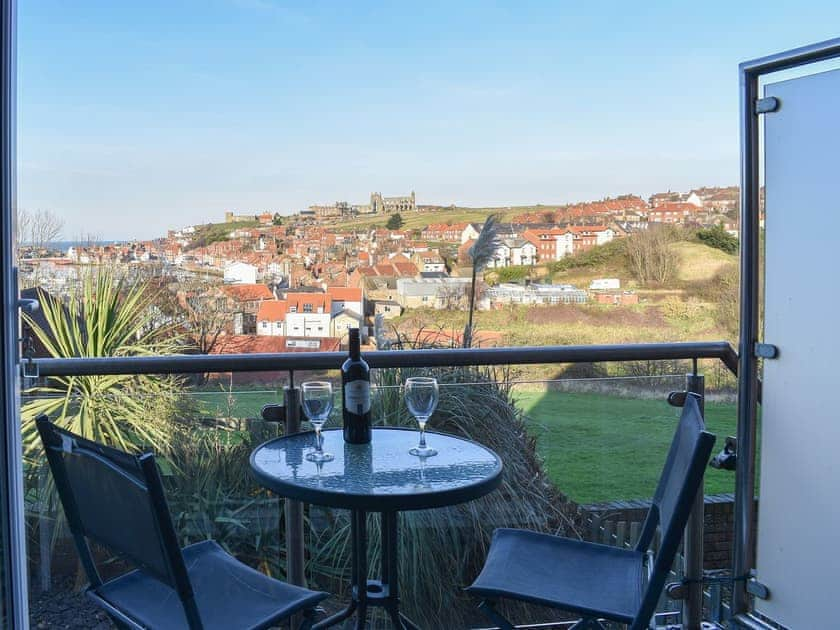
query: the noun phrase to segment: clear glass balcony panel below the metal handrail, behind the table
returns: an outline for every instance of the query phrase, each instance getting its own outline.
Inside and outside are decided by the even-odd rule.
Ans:
[[[714,363],[700,367],[706,373],[707,424],[722,445],[726,435],[734,434],[734,398],[726,378],[715,380],[710,370]],[[679,415],[666,397],[684,389],[691,365],[654,362],[541,369],[536,378],[533,371],[505,366],[373,371],[375,424],[416,428],[401,384],[409,376],[434,375],[440,382],[440,403],[430,430],[482,442],[498,452],[506,466],[503,486],[486,497],[400,515],[403,609],[421,626],[442,621],[447,627],[487,625],[462,588],[480,570],[498,527],[619,546],[635,543]],[[294,376],[298,386],[310,379],[333,383],[335,406],[327,428],[340,427],[339,373]],[[260,410],[265,404],[282,404],[287,384],[285,373],[212,375],[200,385],[184,380],[174,402],[178,412],[169,427],[171,441],[159,457],[182,544],[214,538],[242,561],[280,578],[285,577],[288,559],[284,500],[252,480],[248,456],[261,442],[282,434],[284,427],[263,421]],[[44,399],[26,396],[25,408]],[[71,406],[81,403],[77,397]],[[302,430],[309,430],[305,417],[301,420]],[[49,610],[55,602],[79,597],[76,593],[85,580],[60,510],[50,500],[50,477],[40,456],[28,460],[26,484],[32,619],[41,623],[51,619]],[[733,486],[732,472],[708,469],[707,532],[730,527],[727,493]],[[305,506],[304,514],[308,585],[334,593],[327,608],[337,610],[349,597],[348,513],[312,505]],[[377,577],[379,520],[372,514],[368,521],[368,566],[370,577]],[[707,568],[717,568],[713,559],[728,553],[726,544],[707,537]],[[105,551],[97,553],[105,575],[125,569]],[[674,581],[681,571],[678,559]],[[725,603],[726,594],[727,589],[707,593],[709,618],[717,614],[718,600]],[[678,610],[679,602],[663,597],[660,613]],[[568,618],[534,606],[510,606],[505,612],[517,623]],[[663,622],[673,619],[661,617]],[[372,611],[372,620],[374,627],[386,627],[379,611]]]

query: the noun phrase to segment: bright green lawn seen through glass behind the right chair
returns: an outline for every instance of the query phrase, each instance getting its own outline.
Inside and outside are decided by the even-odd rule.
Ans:
[[[662,400],[602,394],[516,392],[537,437],[546,470],[578,503],[653,495],[679,409]],[[735,434],[735,405],[706,404],[706,426],[717,435],[715,453]],[[706,494],[734,492],[735,473],[706,470]]]

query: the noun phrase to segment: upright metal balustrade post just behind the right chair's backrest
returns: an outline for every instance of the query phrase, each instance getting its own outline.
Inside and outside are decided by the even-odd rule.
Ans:
[[[697,361],[694,361],[694,371],[686,375],[686,391],[699,394],[700,413],[705,417],[705,378],[697,373]],[[703,620],[703,510],[704,510],[703,481],[697,496],[694,497],[694,507],[685,526],[684,548],[685,570],[683,577],[687,580],[688,589],[683,600],[683,628],[686,630],[700,630]]]

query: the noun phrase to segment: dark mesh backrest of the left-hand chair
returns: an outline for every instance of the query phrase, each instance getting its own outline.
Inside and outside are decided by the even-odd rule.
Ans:
[[[153,453],[130,455],[36,419],[67,523],[93,588],[102,584],[88,540],[173,588],[201,628]]]

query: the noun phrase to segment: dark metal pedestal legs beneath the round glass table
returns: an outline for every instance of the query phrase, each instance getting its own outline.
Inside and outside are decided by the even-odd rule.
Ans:
[[[367,578],[367,513],[352,510],[350,514],[350,538],[352,561],[350,565],[350,589],[352,600],[341,612],[324,619],[313,626],[321,630],[341,623],[356,615],[355,628],[362,630],[367,626],[368,607],[384,608],[391,623],[398,630],[419,630],[410,619],[400,612],[398,578],[398,531],[397,513],[382,512],[382,562],[381,576],[378,580]]]

